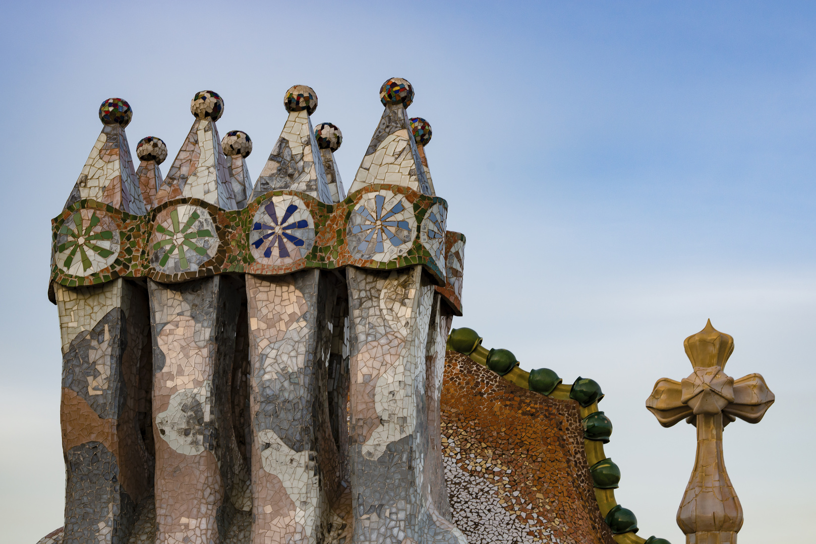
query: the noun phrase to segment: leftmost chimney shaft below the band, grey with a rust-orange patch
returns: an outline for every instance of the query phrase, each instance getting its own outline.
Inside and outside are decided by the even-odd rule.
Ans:
[[[147,297],[121,278],[89,288],[55,285],[55,295],[63,341],[63,542],[122,542],[153,489]]]

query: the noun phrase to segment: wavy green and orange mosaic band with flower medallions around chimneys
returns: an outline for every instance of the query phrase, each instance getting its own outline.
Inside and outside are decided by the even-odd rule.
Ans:
[[[361,188],[336,205],[304,192],[270,191],[242,210],[177,198],[146,215],[82,199],[51,221],[52,280],[68,287],[120,276],[175,283],[222,272],[277,276],[302,268],[421,264],[448,299],[459,299],[444,268],[446,250],[464,237],[446,236],[446,213],[444,199],[390,184]],[[375,229],[380,240],[367,239]],[[179,247],[193,249],[198,259],[183,257]]]

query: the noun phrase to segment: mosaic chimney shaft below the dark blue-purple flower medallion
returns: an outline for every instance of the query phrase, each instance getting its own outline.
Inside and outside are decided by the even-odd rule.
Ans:
[[[342,493],[342,435],[335,438],[332,429],[328,376],[338,374],[332,345],[344,321],[335,312],[344,296],[335,278],[319,270],[247,275],[246,292],[252,542],[336,542],[345,529],[331,508]]]

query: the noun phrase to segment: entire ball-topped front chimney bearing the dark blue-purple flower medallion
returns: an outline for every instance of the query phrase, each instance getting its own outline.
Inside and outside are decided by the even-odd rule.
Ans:
[[[293,86],[284,107],[289,118],[255,184],[256,196],[276,191],[257,204],[250,250],[259,265],[293,272],[246,275],[257,544],[336,540],[350,525],[337,504],[348,484],[329,415],[330,376],[348,366],[345,286],[336,272],[293,266],[312,249],[316,232],[303,194],[331,202],[310,120],[317,94]]]

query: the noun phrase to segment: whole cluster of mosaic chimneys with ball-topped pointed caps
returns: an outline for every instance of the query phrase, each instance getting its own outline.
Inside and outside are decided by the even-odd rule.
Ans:
[[[410,84],[380,95],[348,197],[308,86],[255,184],[217,93],[193,98],[166,177],[164,142],[142,139],[134,170],[131,108],[103,104],[53,221],[68,480],[43,542],[465,542],[439,436],[464,237],[419,161]]]

